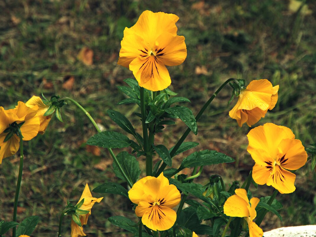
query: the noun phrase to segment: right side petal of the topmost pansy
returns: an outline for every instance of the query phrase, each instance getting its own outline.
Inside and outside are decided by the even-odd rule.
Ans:
[[[158,38],[159,45],[156,47],[156,57],[167,66],[182,64],[186,58],[185,38],[164,32]]]

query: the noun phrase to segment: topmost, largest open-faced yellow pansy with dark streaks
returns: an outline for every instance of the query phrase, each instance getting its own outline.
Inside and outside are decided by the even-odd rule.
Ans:
[[[144,11],[131,28],[125,28],[118,64],[129,68],[139,86],[158,91],[171,84],[165,65],[182,64],[186,58],[183,36],[177,35],[179,17]]]

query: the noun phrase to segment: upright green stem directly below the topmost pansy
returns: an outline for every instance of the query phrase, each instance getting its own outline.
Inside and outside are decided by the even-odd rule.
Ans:
[[[140,108],[142,114],[142,125],[143,125],[143,138],[144,138],[144,152],[146,156],[146,176],[152,176],[153,173],[153,157],[149,152],[149,143],[148,143],[148,129],[146,121],[146,107],[145,107],[145,98],[144,98],[144,88],[140,88]]]

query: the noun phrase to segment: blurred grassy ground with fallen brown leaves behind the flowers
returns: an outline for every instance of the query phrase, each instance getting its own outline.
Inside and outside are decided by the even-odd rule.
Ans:
[[[180,17],[178,35],[185,36],[188,56],[180,66],[168,68],[170,88],[191,100],[188,106],[193,112],[230,77],[248,83],[267,78],[273,85],[280,85],[279,100],[255,126],[266,122],[287,126],[308,145],[315,142],[316,131],[316,3],[306,3],[310,12],[306,7],[289,10],[289,1],[272,0],[0,1],[1,106],[8,109],[18,100],[27,101],[41,92],[47,97],[70,96],[106,130],[120,131],[106,114],[108,109],[115,109],[140,132],[141,122],[133,115],[139,108],[116,106],[125,98],[116,87],[132,77],[131,71],[117,65],[117,60],[124,28],[131,27],[143,10],[149,9]],[[77,59],[83,47],[94,52],[92,65]],[[71,77],[73,85],[63,88]],[[196,150],[215,149],[236,159],[233,164],[205,167],[197,179],[201,184],[212,174],[220,174],[227,184],[234,180],[242,183],[253,166],[246,152],[250,128],[239,128],[229,118],[228,111],[236,102],[227,107],[230,95],[229,87],[222,90],[198,122],[198,136],[190,134],[186,139],[200,143]],[[113,175],[110,155],[85,145],[96,132],[89,120],[72,104],[62,111],[64,123],[52,119],[43,136],[25,143],[18,221],[30,215],[40,216],[33,236],[56,236],[66,200],[75,204],[86,183],[92,190],[104,182],[122,182]],[[170,148],[185,129],[182,122],[167,126],[163,134],[156,135],[155,143]],[[189,154],[175,158],[173,166],[178,167]],[[144,170],[143,158],[139,160]],[[0,220],[12,218],[18,161],[15,155],[4,159],[0,166]],[[283,222],[268,214],[261,226],[264,231],[316,223],[316,175],[309,164],[296,172],[296,191],[277,196],[284,205]],[[266,185],[258,190],[252,186],[251,190],[256,197],[273,192]],[[85,233],[127,236],[106,221],[114,215],[135,219],[128,200],[105,195],[94,206]],[[70,235],[68,217],[64,219],[63,233]]]

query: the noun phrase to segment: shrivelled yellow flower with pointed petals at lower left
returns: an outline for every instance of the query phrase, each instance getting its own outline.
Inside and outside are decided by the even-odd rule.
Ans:
[[[84,214],[84,215],[80,215],[79,219],[81,222],[81,226],[78,226],[72,219],[71,219],[71,237],[82,237],[82,236],[86,236],[86,234],[83,232],[82,229],[82,225],[86,225],[88,222],[88,217],[91,215],[91,208],[93,207],[93,205],[95,203],[100,203],[101,200],[103,199],[103,197],[100,198],[96,198],[96,197],[92,197],[92,194],[90,192],[89,186],[88,184],[86,184],[82,195],[78,201],[78,203],[80,203],[80,201],[84,198],[83,204],[82,206],[80,206],[81,210],[86,210],[89,211],[88,214]],[[78,204],[77,203],[77,204]]]

